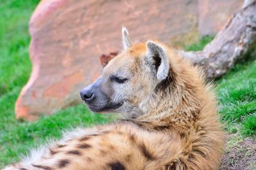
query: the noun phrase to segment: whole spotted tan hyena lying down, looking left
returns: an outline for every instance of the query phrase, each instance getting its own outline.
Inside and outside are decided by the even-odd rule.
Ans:
[[[224,134],[212,85],[191,62],[160,43],[132,43],[81,91],[111,124],[63,134],[7,169],[218,169]]]

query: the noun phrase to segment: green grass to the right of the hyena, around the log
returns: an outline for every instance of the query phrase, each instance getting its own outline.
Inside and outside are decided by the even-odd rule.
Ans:
[[[212,36],[202,37],[199,43],[185,46],[186,50],[202,50]],[[229,133],[256,137],[256,48],[251,50],[220,80],[216,80],[220,101],[221,122]]]

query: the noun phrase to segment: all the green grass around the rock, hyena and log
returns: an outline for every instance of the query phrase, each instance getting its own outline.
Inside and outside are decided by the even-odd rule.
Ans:
[[[31,72],[28,21],[39,0],[0,1],[0,167],[15,162],[36,143],[59,138],[63,129],[104,124],[114,115],[97,115],[83,104],[61,110],[51,117],[29,123],[15,119],[14,104]],[[202,50],[213,37],[204,37],[186,50]],[[241,61],[216,81],[221,121],[225,130],[255,136],[256,61],[255,54]],[[253,59],[254,57],[254,59]]]

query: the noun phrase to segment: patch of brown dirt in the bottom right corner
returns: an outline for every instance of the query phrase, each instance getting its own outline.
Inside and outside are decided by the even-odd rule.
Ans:
[[[256,169],[256,140],[241,139],[237,134],[227,135],[227,146],[220,170]]]

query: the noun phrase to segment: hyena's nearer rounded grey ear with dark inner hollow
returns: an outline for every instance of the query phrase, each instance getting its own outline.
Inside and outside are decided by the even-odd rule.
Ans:
[[[163,46],[154,41],[147,41],[147,61],[156,69],[158,80],[164,80],[169,73],[169,60]]]

